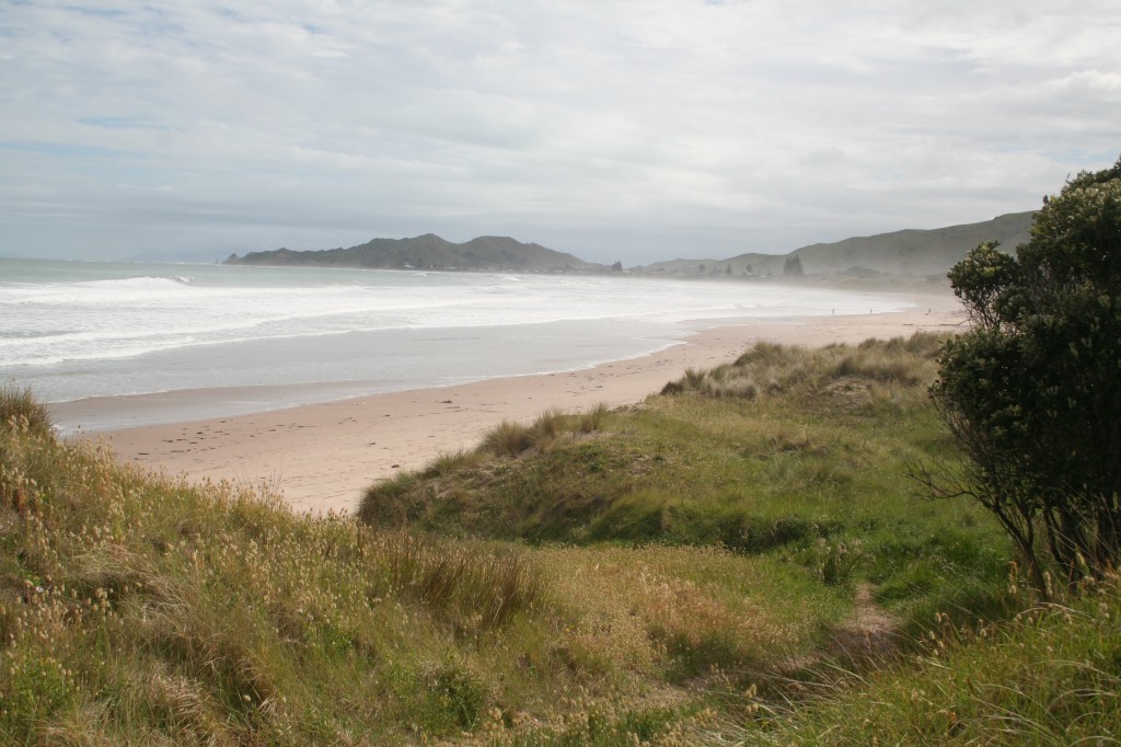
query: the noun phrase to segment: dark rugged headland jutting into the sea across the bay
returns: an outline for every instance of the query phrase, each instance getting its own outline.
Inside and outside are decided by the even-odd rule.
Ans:
[[[413,239],[373,239],[349,249],[317,251],[254,251],[231,255],[226,265],[306,265],[315,267],[368,267],[378,269],[461,269],[563,271],[605,270],[584,260],[537,243],[508,237],[484,236],[464,243],[445,241],[435,233]]]

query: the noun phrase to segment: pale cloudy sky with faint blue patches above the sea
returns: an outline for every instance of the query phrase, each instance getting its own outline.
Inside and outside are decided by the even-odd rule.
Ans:
[[[0,256],[984,221],[1118,160],[1119,39],[1115,0],[0,0]]]

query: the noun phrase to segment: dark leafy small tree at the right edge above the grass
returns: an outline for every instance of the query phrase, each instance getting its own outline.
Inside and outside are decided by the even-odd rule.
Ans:
[[[971,495],[1045,589],[1044,547],[1069,582],[1121,560],[1121,159],[1036,213],[1016,257],[982,243],[949,271],[971,329],[948,341],[932,396],[966,458],[938,495]]]

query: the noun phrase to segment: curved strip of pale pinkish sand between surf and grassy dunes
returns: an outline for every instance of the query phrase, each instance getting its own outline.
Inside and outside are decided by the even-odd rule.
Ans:
[[[963,322],[956,298],[909,296],[915,311],[751,322],[711,329],[661,352],[564,374],[491,379],[307,405],[268,413],[101,433],[121,461],[191,481],[222,479],[279,489],[298,510],[352,510],[362,490],[439,452],[474,446],[503,419],[528,422],[556,407],[619,406],[655,394],[686,368],[733,360],[758,340],[816,347],[868,338],[947,332]],[[174,393],[177,398],[204,393]],[[72,403],[113,407],[114,398]],[[78,436],[81,436],[81,431]]]

